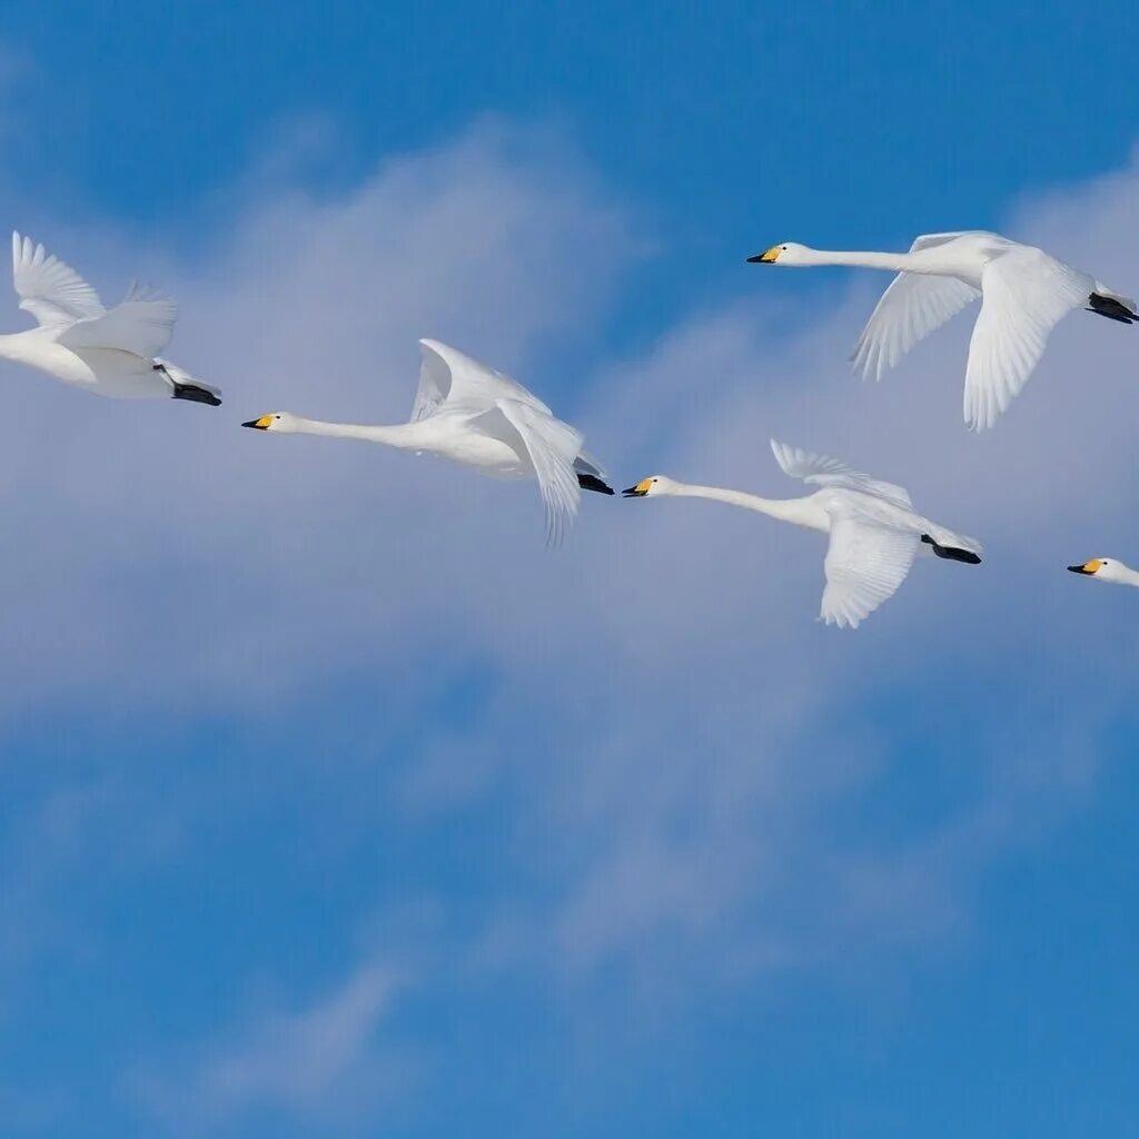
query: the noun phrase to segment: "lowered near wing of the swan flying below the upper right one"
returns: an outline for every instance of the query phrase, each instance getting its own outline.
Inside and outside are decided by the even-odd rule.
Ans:
[[[906,581],[919,543],[916,531],[884,526],[858,511],[833,514],[821,620],[857,629]]]

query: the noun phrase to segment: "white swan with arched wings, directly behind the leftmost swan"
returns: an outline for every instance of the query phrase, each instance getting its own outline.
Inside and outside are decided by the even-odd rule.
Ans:
[[[577,513],[580,490],[612,494],[605,473],[581,449],[582,434],[509,376],[439,341],[420,341],[423,362],[411,421],[387,426],[323,423],[288,411],[243,427],[331,435],[428,451],[498,478],[534,478],[555,546]]]

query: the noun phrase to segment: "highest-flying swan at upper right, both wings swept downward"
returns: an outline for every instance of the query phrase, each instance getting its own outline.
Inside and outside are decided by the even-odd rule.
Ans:
[[[909,253],[835,253],[787,241],[747,259],[769,265],[862,265],[896,272],[854,345],[851,362],[880,379],[918,341],[981,297],[965,371],[965,421],[992,427],[1075,309],[1130,325],[1136,303],[1031,245],[999,233],[926,233]]]

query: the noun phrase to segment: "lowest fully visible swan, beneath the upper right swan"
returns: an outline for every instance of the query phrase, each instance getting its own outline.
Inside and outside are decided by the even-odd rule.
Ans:
[[[851,470],[836,459],[771,441],[784,473],[819,486],[801,499],[765,499],[719,486],[693,486],[650,475],[622,491],[625,498],[679,494],[757,510],[782,522],[830,535],[822,563],[827,577],[820,618],[857,629],[860,621],[893,596],[919,549],[941,558],[981,562],[981,544],[954,534],[913,510],[910,495],[893,483]]]

